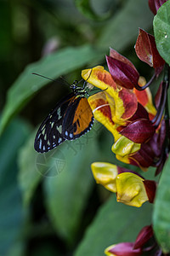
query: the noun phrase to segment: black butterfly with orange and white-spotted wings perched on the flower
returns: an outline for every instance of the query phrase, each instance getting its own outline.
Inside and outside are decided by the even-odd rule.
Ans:
[[[61,99],[40,125],[34,148],[45,153],[59,146],[65,140],[75,140],[94,125],[94,114],[85,97],[88,92],[78,87],[76,80],[70,85],[72,92]]]

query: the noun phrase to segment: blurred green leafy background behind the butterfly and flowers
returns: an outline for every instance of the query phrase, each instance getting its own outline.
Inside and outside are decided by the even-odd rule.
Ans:
[[[133,45],[138,28],[150,31],[152,19],[144,0],[1,0],[0,256],[102,256],[111,241],[133,241],[150,224],[150,206],[133,222],[139,210],[107,201],[110,193],[94,184],[90,164],[116,162],[105,128],[95,124],[45,156],[33,141],[37,125],[68,93],[59,76],[81,79],[83,68],[105,65],[109,47],[147,77]],[[132,222],[129,237],[123,229]]]

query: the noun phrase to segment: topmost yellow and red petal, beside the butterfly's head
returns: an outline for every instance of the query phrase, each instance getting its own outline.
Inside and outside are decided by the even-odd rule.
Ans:
[[[137,97],[131,90],[122,88],[112,79],[111,73],[97,66],[82,70],[82,78],[101,90],[105,90],[106,101],[110,104],[114,123],[126,125],[126,119],[133,116],[137,109]]]

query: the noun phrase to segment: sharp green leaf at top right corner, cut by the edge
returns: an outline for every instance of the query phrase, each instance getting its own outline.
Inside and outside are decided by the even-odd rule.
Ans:
[[[161,5],[154,18],[156,47],[161,57],[170,65],[170,1]]]

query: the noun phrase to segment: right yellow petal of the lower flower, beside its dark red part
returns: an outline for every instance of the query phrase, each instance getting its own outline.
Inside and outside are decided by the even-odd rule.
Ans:
[[[123,172],[116,177],[117,201],[128,206],[141,207],[148,196],[143,183],[144,179],[132,172]]]

